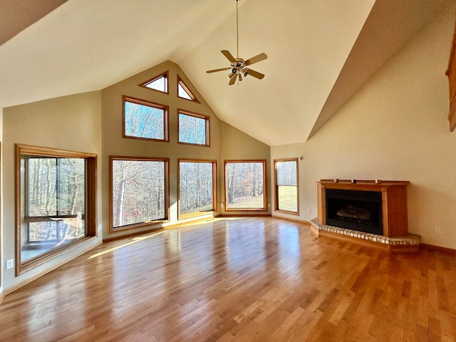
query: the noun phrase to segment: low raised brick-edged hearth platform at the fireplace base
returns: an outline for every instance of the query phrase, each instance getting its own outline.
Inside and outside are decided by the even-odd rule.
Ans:
[[[421,237],[408,233],[407,237],[384,237],[383,235],[358,232],[352,229],[333,227],[322,224],[317,218],[311,219],[311,231],[317,236],[334,237],[348,240],[369,247],[387,249],[388,252],[418,252]]]

